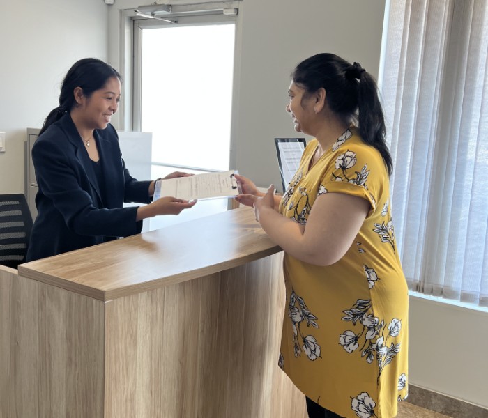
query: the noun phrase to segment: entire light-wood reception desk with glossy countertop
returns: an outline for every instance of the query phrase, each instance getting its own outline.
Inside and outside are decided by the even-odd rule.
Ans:
[[[0,270],[0,417],[305,417],[282,253],[240,208]]]

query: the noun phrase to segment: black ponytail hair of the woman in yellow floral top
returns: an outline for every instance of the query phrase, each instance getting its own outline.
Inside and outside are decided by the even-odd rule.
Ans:
[[[378,87],[369,72],[359,63],[351,64],[335,54],[317,54],[299,63],[291,78],[307,93],[324,88],[328,106],[344,121],[349,123],[357,118],[361,138],[379,151],[388,173],[392,173]]]

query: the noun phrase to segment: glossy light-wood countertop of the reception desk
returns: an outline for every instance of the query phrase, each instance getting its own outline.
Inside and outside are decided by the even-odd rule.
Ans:
[[[31,261],[19,274],[107,301],[197,279],[281,251],[239,208]]]

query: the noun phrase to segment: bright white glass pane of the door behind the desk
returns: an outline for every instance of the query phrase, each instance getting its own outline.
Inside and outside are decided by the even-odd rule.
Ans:
[[[234,23],[144,29],[141,122],[154,164],[230,168],[234,32]]]

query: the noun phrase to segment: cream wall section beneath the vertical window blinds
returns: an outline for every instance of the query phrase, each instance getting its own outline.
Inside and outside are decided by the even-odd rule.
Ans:
[[[488,311],[413,295],[409,320],[410,382],[488,408]]]

